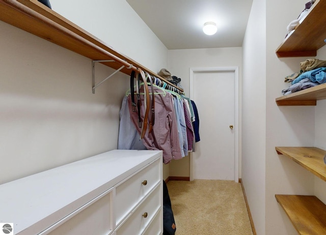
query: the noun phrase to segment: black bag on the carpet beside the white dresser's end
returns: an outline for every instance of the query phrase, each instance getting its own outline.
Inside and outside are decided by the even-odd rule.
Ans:
[[[163,181],[163,234],[174,235],[176,229],[168,187]]]

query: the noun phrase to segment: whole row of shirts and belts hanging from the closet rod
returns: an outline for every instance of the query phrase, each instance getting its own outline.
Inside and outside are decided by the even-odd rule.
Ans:
[[[143,71],[139,74],[131,73],[130,91],[122,101],[118,149],[162,150],[165,164],[195,151],[199,141],[195,103],[166,82]],[[150,82],[144,91],[146,80]]]

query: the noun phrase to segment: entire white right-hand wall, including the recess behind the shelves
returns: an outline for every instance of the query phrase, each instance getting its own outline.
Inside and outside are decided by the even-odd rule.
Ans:
[[[325,148],[324,101],[317,107],[275,103],[289,86],[284,77],[298,72],[300,62],[307,58],[278,58],[275,54],[286,26],[306,2],[254,0],[243,43],[242,181],[259,235],[297,234],[275,194],[315,193],[325,198],[324,182],[275,151],[275,146]],[[322,59],[325,53],[320,52]]]

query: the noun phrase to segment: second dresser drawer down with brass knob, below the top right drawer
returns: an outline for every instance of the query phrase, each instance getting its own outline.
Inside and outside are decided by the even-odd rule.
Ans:
[[[161,184],[159,184],[137,210],[117,229],[117,235],[142,234],[154,216],[157,215],[157,212],[161,210],[161,197]],[[145,213],[147,213],[147,217]]]

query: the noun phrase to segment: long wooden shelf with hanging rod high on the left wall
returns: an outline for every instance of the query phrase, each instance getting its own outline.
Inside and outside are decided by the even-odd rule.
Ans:
[[[0,20],[86,56],[93,61],[114,60],[115,62],[103,62],[102,64],[116,70],[125,65],[126,67],[121,72],[127,75],[130,75],[131,69],[137,70],[137,68],[141,68],[143,71],[183,92],[180,87],[158,76],[131,58],[115,51],[112,47],[83,30],[83,28],[37,0],[0,0]],[[128,69],[127,67],[130,64],[133,66]]]

